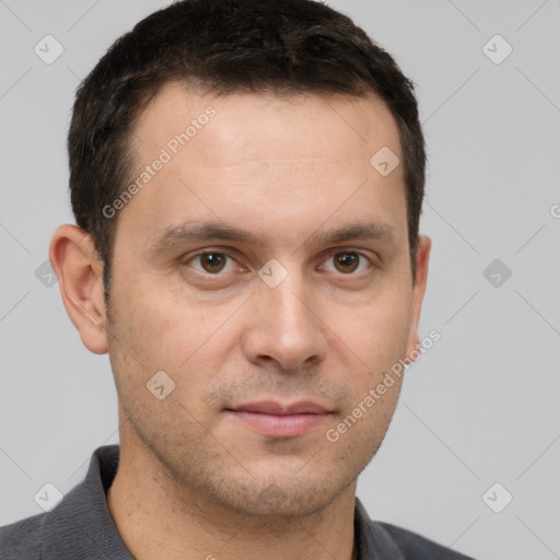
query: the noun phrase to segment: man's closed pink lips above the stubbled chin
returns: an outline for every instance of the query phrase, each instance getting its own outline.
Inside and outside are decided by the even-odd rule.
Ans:
[[[247,402],[225,412],[246,427],[270,438],[299,438],[330,419],[334,412],[316,402],[291,405],[262,401]]]

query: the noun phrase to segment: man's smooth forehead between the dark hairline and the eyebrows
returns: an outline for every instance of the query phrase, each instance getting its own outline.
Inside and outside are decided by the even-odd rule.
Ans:
[[[406,228],[402,166],[383,176],[371,164],[387,148],[401,160],[395,119],[373,95],[217,96],[171,83],[135,124],[133,178],[164,163],[119,222],[137,209],[150,236],[197,219],[279,231],[289,219],[316,228],[336,210],[345,225],[362,212]]]

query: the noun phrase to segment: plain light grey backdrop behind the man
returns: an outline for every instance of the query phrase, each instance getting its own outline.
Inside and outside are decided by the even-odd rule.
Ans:
[[[421,229],[433,241],[420,335],[442,335],[409,370],[358,494],[374,518],[477,558],[559,558],[560,2],[329,3],[417,83],[430,155]],[[55,228],[73,221],[74,89],[165,4],[0,0],[0,525],[39,513],[46,482],[67,492],[95,447],[118,442],[108,359],[82,347],[39,267]],[[51,65],[34,52],[47,34],[65,49]],[[513,48],[501,63],[483,50],[495,34]],[[494,259],[511,278],[500,264],[485,277]],[[495,482],[506,490],[485,502]],[[494,513],[505,491],[513,501]]]

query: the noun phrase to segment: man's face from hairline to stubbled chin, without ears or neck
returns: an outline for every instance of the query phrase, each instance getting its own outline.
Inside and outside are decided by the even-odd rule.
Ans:
[[[395,121],[374,97],[172,84],[135,133],[135,178],[164,164],[113,218],[121,443],[142,442],[190,498],[317,511],[376,452],[399,381],[338,441],[327,433],[417,340],[402,165],[383,176],[370,164],[383,147],[400,158]],[[160,371],[175,383],[163,399],[147,388]],[[166,376],[149,384],[156,395]]]

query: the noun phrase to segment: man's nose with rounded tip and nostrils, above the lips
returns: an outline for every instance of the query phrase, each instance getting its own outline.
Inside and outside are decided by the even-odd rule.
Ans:
[[[294,271],[277,287],[260,281],[246,310],[243,351],[252,363],[273,361],[282,370],[301,370],[325,359],[327,327],[317,298]]]

